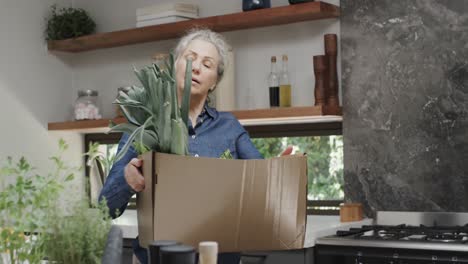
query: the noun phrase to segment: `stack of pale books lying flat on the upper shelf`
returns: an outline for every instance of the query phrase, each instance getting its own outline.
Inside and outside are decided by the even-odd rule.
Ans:
[[[198,18],[198,6],[188,3],[164,3],[138,8],[137,27],[166,24]]]

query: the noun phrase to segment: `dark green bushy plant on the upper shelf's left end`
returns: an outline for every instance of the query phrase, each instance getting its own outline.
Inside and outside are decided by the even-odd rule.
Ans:
[[[81,8],[57,8],[52,5],[47,18],[46,39],[61,40],[77,38],[94,33],[96,23]]]

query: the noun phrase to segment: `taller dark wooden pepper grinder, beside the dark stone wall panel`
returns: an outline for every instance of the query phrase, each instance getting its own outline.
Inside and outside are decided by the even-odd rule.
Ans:
[[[337,72],[337,56],[338,56],[338,41],[336,34],[326,34],[325,37],[325,55],[328,60],[327,82],[328,89],[326,94],[326,104],[332,107],[339,107],[338,99],[338,72]]]

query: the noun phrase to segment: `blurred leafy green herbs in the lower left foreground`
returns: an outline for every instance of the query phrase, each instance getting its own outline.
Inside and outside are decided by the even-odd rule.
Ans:
[[[90,210],[85,199],[59,209],[78,171],[61,159],[67,147],[60,140],[46,175],[25,158],[8,158],[0,167],[0,263],[100,263],[111,226],[105,202],[99,210]]]

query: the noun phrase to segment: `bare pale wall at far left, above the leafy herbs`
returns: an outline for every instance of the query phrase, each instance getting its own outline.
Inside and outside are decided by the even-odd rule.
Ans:
[[[49,54],[44,41],[45,16],[55,2],[70,4],[0,0],[0,162],[24,156],[42,173],[49,171],[48,157],[57,152],[59,137],[75,148],[80,141],[47,130],[48,122],[69,118],[72,92],[70,66]],[[76,161],[76,153],[65,158]],[[81,158],[74,164],[81,165]]]

